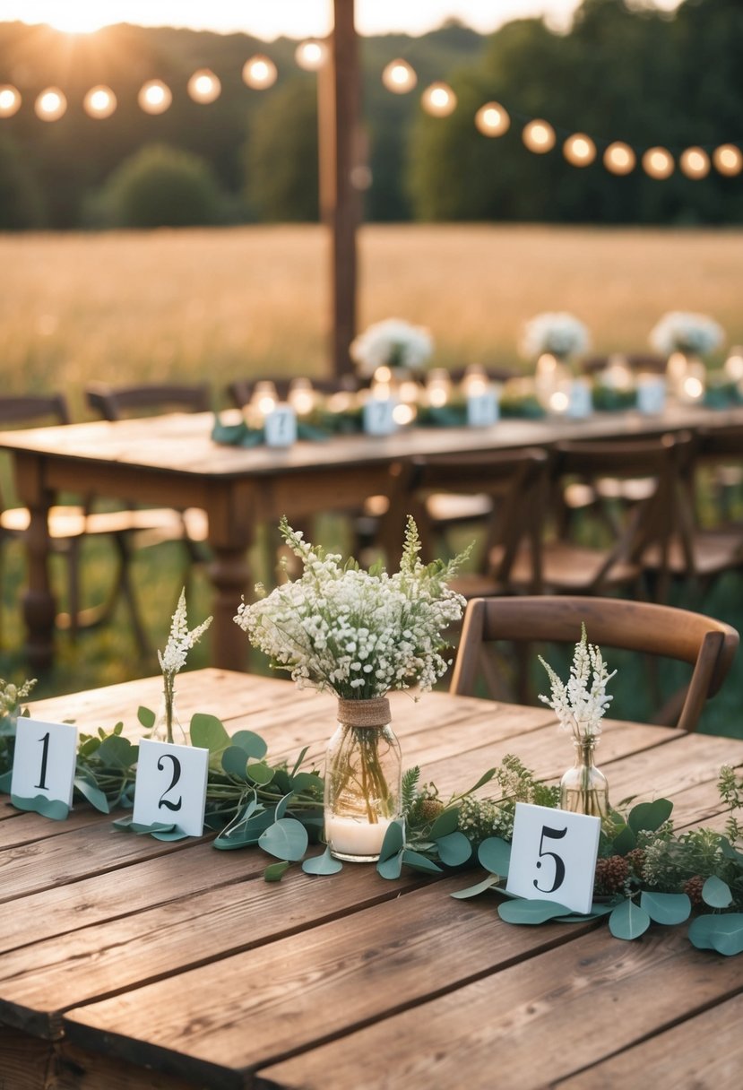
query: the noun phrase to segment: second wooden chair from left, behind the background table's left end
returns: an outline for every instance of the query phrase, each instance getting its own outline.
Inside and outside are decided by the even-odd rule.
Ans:
[[[207,384],[187,386],[155,383],[109,386],[94,383],[85,392],[88,407],[108,421],[168,412],[206,412],[210,408],[210,390]],[[183,543],[186,564],[179,580],[179,592],[182,585],[187,586],[194,566],[203,564],[206,559],[202,553],[203,543],[208,537],[205,512],[195,507],[185,509],[142,507],[132,498],[127,500],[127,513],[139,531],[137,538],[139,544]],[[129,540],[122,538],[120,547],[122,566],[127,569],[133,559],[132,546]],[[137,625],[137,638],[143,653],[148,654],[149,641],[142,622]]]

